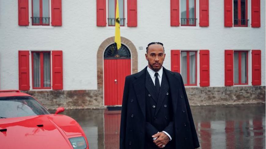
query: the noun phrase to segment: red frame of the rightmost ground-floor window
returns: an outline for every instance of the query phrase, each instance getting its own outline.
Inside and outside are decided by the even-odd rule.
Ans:
[[[249,84],[249,59],[248,59],[248,51],[237,51],[234,50],[234,52],[238,52],[238,83],[234,82],[234,85],[248,85]],[[241,53],[245,52],[246,53],[246,70],[247,70],[247,83],[241,83]],[[234,61],[233,61],[234,62]]]

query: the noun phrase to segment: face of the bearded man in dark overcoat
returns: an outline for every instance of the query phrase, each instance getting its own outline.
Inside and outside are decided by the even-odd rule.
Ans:
[[[163,46],[160,44],[152,44],[148,48],[148,53],[145,54],[148,60],[148,67],[153,71],[157,72],[163,66],[163,61],[165,58],[165,53],[163,51]]]

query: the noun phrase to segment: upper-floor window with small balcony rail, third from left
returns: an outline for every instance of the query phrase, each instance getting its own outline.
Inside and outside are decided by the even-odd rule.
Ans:
[[[180,0],[181,26],[196,26],[196,0]]]

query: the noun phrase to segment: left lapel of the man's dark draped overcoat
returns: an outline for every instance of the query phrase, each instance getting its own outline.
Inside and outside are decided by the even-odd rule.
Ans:
[[[133,87],[137,96],[137,101],[139,103],[141,112],[145,118],[146,111],[145,111],[145,74],[146,74],[147,67],[141,70],[136,76],[136,80],[133,81]]]

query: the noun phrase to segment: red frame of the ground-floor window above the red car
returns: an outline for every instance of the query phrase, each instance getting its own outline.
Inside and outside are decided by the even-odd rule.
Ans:
[[[33,53],[40,53],[40,87],[34,87],[34,61],[33,61]],[[50,53],[50,87],[43,86],[43,53]],[[52,88],[52,78],[51,78],[51,51],[31,51],[32,54],[32,89],[51,89]]]

